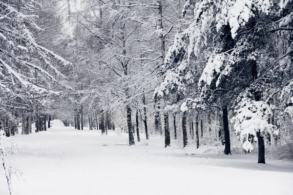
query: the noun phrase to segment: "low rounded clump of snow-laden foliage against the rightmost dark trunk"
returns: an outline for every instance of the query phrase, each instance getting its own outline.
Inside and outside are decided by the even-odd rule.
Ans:
[[[263,137],[267,134],[271,137],[273,134],[278,135],[276,127],[268,122],[272,117],[272,110],[265,102],[245,98],[238,104],[236,113],[231,122],[234,123],[235,133],[243,143],[244,150],[253,150],[252,142],[257,141],[257,132],[260,132]]]

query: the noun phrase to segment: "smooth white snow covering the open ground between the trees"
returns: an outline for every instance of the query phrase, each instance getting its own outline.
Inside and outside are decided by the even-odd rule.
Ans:
[[[165,149],[162,137],[144,135],[129,146],[127,135],[85,129],[55,120],[46,132],[13,137],[10,163],[22,172],[12,176],[13,195],[293,195],[291,162]],[[0,195],[8,194],[0,167]]]

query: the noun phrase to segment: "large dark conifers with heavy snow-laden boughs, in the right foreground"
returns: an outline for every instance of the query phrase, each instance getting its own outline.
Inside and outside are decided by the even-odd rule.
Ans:
[[[264,139],[292,134],[285,114],[292,104],[292,1],[188,1],[183,13],[193,3],[193,21],[175,36],[156,95],[182,99],[183,115],[222,108],[225,154],[230,111],[244,150],[257,141],[265,163]]]

